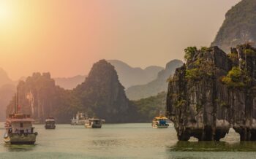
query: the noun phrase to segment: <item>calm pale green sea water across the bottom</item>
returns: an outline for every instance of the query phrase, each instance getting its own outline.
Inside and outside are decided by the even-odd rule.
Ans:
[[[0,123],[4,125],[4,123]],[[56,125],[39,133],[35,145],[0,141],[0,158],[256,158],[256,142],[240,142],[233,130],[219,142],[177,141],[173,125],[151,128],[151,123],[105,124],[101,129]],[[1,135],[4,129],[0,129]]]

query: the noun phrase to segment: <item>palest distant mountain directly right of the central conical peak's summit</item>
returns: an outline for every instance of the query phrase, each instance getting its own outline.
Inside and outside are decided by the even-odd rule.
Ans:
[[[157,78],[158,72],[164,69],[160,66],[148,66],[146,69],[141,69],[118,60],[109,60],[108,62],[115,67],[118,79],[124,88],[151,82]]]

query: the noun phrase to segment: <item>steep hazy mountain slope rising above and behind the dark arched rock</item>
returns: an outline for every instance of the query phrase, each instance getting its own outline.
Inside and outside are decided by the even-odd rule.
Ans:
[[[237,44],[256,42],[256,1],[242,0],[227,13],[222,27],[211,46],[228,51]]]

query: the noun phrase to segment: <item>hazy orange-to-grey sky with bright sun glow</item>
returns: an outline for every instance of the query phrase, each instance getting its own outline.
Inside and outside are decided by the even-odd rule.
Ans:
[[[209,46],[240,0],[0,0],[0,67],[12,80],[88,74],[100,59],[165,66]]]

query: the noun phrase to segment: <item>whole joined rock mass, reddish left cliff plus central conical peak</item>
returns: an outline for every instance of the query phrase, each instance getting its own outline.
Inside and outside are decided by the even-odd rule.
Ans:
[[[14,112],[14,103],[12,98],[7,115]],[[34,73],[19,82],[18,104],[18,112],[30,114],[39,123],[49,116],[55,117],[58,123],[69,123],[78,111],[103,118],[107,123],[135,122],[138,117],[116,70],[105,60],[95,63],[86,80],[74,90],[56,86],[49,73]]]

